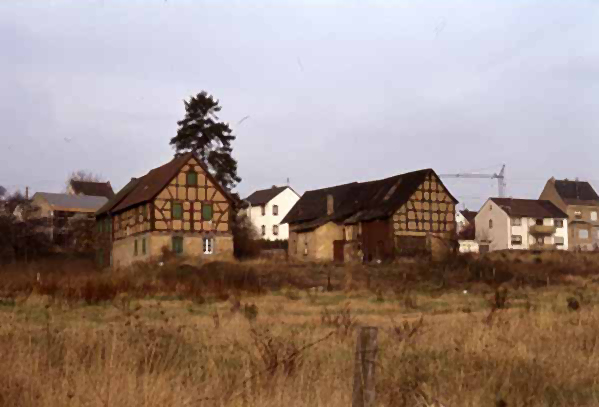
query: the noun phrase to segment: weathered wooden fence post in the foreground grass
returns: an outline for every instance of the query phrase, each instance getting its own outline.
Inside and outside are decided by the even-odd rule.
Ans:
[[[376,400],[375,375],[378,328],[361,327],[356,341],[354,391],[352,407],[374,407]]]

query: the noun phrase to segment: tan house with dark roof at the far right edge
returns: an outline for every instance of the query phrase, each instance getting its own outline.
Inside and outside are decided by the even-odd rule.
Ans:
[[[568,215],[570,250],[599,249],[599,196],[586,181],[549,179],[540,199]]]

